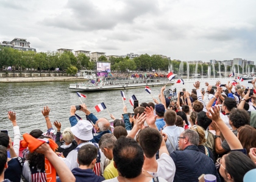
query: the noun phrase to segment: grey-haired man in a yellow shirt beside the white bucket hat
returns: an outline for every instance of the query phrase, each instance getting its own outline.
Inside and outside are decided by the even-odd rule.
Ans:
[[[105,180],[109,180],[118,177],[118,170],[114,166],[113,161],[113,148],[116,143],[116,137],[112,133],[105,133],[99,140],[99,148],[104,153],[105,157],[111,160],[110,164],[104,169],[103,177]]]

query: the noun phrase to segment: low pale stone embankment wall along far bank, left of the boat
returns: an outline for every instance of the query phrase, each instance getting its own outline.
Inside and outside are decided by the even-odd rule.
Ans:
[[[0,83],[29,83],[29,82],[54,82],[54,81],[87,81],[83,76],[46,76],[46,77],[15,77],[0,78]]]

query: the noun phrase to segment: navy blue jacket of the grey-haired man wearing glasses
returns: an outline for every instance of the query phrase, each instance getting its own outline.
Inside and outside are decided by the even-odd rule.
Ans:
[[[221,181],[213,160],[202,152],[197,146],[187,146],[184,150],[176,150],[171,153],[171,158],[176,166],[174,182],[198,181],[202,174],[212,174]]]

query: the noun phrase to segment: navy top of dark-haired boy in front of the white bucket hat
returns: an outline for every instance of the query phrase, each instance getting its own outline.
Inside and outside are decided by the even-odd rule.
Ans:
[[[91,169],[80,169],[78,167],[74,168],[71,171],[76,178],[76,182],[82,182],[82,181],[95,181],[95,182],[101,182],[104,181],[104,177],[99,177],[96,175],[93,170]],[[60,178],[57,179],[57,182],[60,182]]]

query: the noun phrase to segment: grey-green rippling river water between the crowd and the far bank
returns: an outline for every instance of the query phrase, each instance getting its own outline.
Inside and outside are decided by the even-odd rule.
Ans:
[[[177,92],[183,88],[191,91],[193,83],[201,81],[201,88],[205,87],[205,81],[215,84],[217,79],[184,79],[185,84],[175,84],[168,86],[167,89],[177,88]],[[221,78],[221,84],[226,84],[232,78]],[[176,82],[176,80],[174,80]],[[16,120],[20,126],[21,133],[30,132],[33,129],[41,129],[46,131],[46,122],[41,113],[44,106],[49,106],[51,112],[49,114],[51,122],[55,120],[62,123],[62,130],[70,127],[69,110],[71,105],[81,104],[76,92],[69,90],[69,84],[74,82],[46,82],[46,83],[6,83],[0,84],[0,130],[9,130],[9,135],[13,138],[12,122],[7,117],[7,112],[12,110],[16,112]],[[244,86],[252,87],[248,81],[243,81]],[[151,87],[152,96],[158,98],[161,87]],[[126,96],[126,104],[128,112],[132,112],[133,107],[129,103],[129,98],[134,94],[139,103],[152,101],[152,96],[144,90],[144,88],[123,90]],[[121,118],[123,113],[123,101],[119,90],[110,90],[105,92],[81,92],[87,95],[87,98],[81,98],[87,104],[88,109],[98,118],[105,117],[110,119],[108,111],[116,118]],[[105,109],[99,113],[96,112],[94,106],[104,102],[108,111]],[[77,115],[85,118],[83,112],[76,112]],[[54,127],[54,126],[53,126]]]

